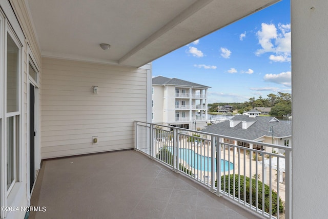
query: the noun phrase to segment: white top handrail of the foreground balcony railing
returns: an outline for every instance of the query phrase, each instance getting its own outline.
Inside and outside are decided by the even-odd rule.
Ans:
[[[152,125],[156,125],[156,126],[170,128],[170,129],[172,128],[172,129],[178,129],[178,130],[182,130],[182,131],[189,131],[189,132],[193,132],[193,133],[197,133],[197,134],[210,135],[210,136],[216,136],[216,137],[222,137],[222,138],[229,138],[229,139],[234,140],[234,141],[240,141],[240,142],[255,144],[255,145],[263,145],[263,146],[267,146],[267,147],[282,149],[282,150],[285,150],[285,151],[292,151],[292,147],[289,147],[289,146],[275,145],[275,144],[269,144],[269,143],[264,143],[264,142],[256,142],[256,141],[247,140],[247,139],[244,139],[244,138],[231,137],[231,136],[226,136],[226,135],[220,135],[220,134],[190,130],[190,129],[185,129],[185,128],[178,128],[178,127],[173,127],[173,126],[166,126],[166,125],[155,124],[155,123],[147,123],[147,122],[140,122],[140,121],[135,121],[135,122],[137,124],[138,123],[143,123],[143,124],[147,124],[147,125],[152,124]]]

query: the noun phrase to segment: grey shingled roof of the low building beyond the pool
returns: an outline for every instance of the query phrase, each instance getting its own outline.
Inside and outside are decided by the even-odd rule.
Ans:
[[[275,137],[285,137],[292,135],[292,124],[280,122],[273,116],[257,116],[252,118],[248,115],[236,115],[231,120],[255,123],[247,129],[242,129],[242,122],[240,122],[235,127],[230,127],[230,121],[225,121],[210,125],[201,131],[224,136],[243,138],[247,140],[256,140],[257,138],[264,135],[272,136],[272,133],[269,133],[269,130],[270,127],[273,126]]]

